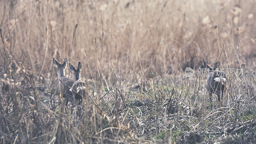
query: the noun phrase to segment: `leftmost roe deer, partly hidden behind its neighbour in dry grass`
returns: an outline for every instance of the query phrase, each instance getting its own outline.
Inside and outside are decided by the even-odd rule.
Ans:
[[[74,80],[65,76],[65,69],[67,67],[67,58],[64,59],[63,63],[60,64],[57,60],[53,58],[53,64],[57,68],[58,82],[57,82],[57,94],[63,93],[63,97],[67,98],[65,105],[68,105],[68,101],[73,103],[74,98],[72,92],[69,89],[74,84]]]

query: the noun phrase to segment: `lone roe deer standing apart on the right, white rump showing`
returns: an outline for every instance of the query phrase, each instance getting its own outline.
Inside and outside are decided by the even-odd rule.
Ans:
[[[223,99],[223,93],[225,92],[225,86],[228,81],[227,75],[224,71],[216,70],[220,63],[216,62],[214,68],[211,68],[207,63],[204,62],[204,68],[207,68],[209,73],[207,75],[207,90],[209,91],[211,108],[212,108],[212,94],[218,96],[218,101],[221,106],[221,101]],[[220,91],[221,91],[221,101],[220,101]]]

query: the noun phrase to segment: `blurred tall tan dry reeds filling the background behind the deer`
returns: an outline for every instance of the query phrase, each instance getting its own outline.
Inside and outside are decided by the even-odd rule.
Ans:
[[[134,68],[164,74],[179,70],[178,63],[185,65],[186,55],[192,68],[196,55],[199,61],[205,54],[214,62],[224,44],[220,61],[232,63],[240,36],[241,61],[251,63],[256,56],[255,6],[254,0],[10,0],[1,1],[0,17],[6,49],[36,75],[43,65],[43,76],[52,73],[55,56],[72,64],[81,61],[87,78],[89,64],[93,76],[100,72],[110,79],[113,66],[124,75],[132,72],[128,55]]]

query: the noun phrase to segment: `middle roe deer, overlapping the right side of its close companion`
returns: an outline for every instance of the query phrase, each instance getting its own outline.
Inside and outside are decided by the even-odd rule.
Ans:
[[[73,97],[75,98],[76,104],[81,104],[83,101],[83,96],[85,96],[85,83],[80,79],[81,77],[81,62],[78,62],[77,69],[69,63],[69,68],[74,74],[75,83],[71,87],[70,91],[72,91]],[[81,101],[80,101],[81,100]]]

